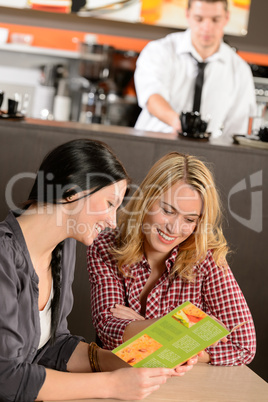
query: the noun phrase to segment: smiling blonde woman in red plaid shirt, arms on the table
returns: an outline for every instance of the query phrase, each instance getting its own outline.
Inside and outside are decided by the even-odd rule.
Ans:
[[[93,323],[112,349],[189,300],[228,329],[247,321],[199,359],[248,364],[253,320],[228,264],[221,210],[210,170],[172,152],[151,168],[119,216],[88,248]]]

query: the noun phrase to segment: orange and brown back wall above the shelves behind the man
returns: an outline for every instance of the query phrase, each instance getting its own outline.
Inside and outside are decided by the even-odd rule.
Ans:
[[[156,27],[145,24],[129,24],[105,21],[75,14],[62,15],[34,10],[16,10],[1,7],[0,24],[27,25],[39,28],[51,28],[71,31],[71,37],[80,38],[85,32],[98,34],[100,43],[104,40],[119,48],[141,50],[149,40],[157,39],[173,32],[171,28]],[[248,34],[245,37],[226,36],[230,45],[236,47],[248,62],[268,65],[267,19],[268,2],[252,0]],[[131,29],[130,29],[131,27]],[[14,28],[14,27],[13,27]],[[12,28],[12,29],[13,29]],[[23,28],[24,29],[24,28]],[[29,29],[29,28],[28,28]],[[36,28],[35,28],[36,30]],[[37,33],[37,31],[35,31]],[[53,34],[53,32],[51,32]],[[68,33],[57,32],[62,46],[68,42]],[[57,37],[53,34],[53,37]],[[107,37],[108,35],[108,37]],[[45,35],[48,37],[47,35]],[[110,37],[111,36],[111,37]],[[109,39],[110,37],[110,39]],[[44,39],[43,39],[44,40]],[[46,40],[46,39],[45,39]],[[111,41],[111,42],[110,42]],[[70,45],[70,42],[69,42]],[[68,45],[68,46],[69,46]],[[74,46],[75,44],[72,44]]]

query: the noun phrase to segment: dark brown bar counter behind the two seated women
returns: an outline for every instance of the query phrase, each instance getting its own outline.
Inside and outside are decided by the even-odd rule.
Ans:
[[[268,205],[268,151],[219,140],[195,142],[172,134],[125,127],[0,120],[0,218],[3,219],[8,211],[5,199],[7,185],[13,189],[11,201],[16,205],[27,198],[32,184],[31,179],[19,179],[19,176],[12,184],[9,181],[12,177],[21,172],[35,172],[48,151],[63,142],[82,137],[109,144],[136,184],[141,182],[157,159],[170,151],[193,154],[208,162],[222,198],[224,233],[232,250],[228,261],[256,325],[257,355],[250,367],[268,380],[268,320],[267,314],[264,315],[268,305],[265,289],[268,283],[268,213],[265,208]],[[84,246],[78,245],[77,256],[73,288],[75,305],[69,324],[72,332],[84,335],[90,341],[95,333],[90,321],[90,290]]]

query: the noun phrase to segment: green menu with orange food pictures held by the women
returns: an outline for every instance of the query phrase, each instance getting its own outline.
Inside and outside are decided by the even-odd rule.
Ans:
[[[134,367],[173,368],[229,333],[187,301],[115,348],[113,353]]]

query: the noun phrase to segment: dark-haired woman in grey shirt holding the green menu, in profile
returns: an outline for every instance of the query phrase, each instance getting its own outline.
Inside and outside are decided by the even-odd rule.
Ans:
[[[116,226],[127,182],[105,144],[71,141],[45,158],[23,209],[0,223],[0,401],[140,399],[189,369],[125,368],[67,329],[76,240],[90,245]]]

